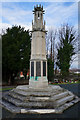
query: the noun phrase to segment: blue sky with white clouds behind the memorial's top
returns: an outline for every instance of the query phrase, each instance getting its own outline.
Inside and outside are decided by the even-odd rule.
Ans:
[[[63,23],[68,23],[69,25],[74,26],[76,30],[78,30],[78,0],[71,0],[73,2],[63,2],[66,0],[55,0],[55,2],[20,2],[20,0],[15,1],[17,2],[5,2],[5,0],[3,0],[2,6],[0,3],[0,26],[2,26],[4,30],[7,27],[12,27],[12,25],[21,25],[22,27],[25,27],[26,30],[31,30],[33,19],[32,10],[34,8],[34,5],[37,4],[43,5],[43,8],[45,10],[44,19],[46,20],[47,30],[51,27],[58,29]],[[77,67],[78,62],[76,60],[72,64],[72,68]]]

